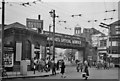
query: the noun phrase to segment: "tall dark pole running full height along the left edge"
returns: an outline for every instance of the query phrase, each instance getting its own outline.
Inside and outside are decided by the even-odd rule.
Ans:
[[[3,54],[4,54],[4,21],[5,21],[5,1],[2,0],[2,28],[1,28],[1,53],[0,53],[0,80],[2,80]]]

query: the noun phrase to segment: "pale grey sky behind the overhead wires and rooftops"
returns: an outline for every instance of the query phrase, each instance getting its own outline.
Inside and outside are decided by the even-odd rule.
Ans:
[[[2,1],[2,0],[1,0]],[[58,33],[74,34],[74,28],[96,28],[101,32],[107,34],[107,29],[99,27],[100,22],[110,24],[118,20],[118,1],[119,0],[5,0],[5,23],[11,24],[14,22],[20,22],[26,25],[26,18],[38,19],[38,15],[41,15],[41,19],[44,20],[44,30],[49,30],[49,25],[52,24],[52,17],[50,11],[55,9],[56,15],[56,29]],[[36,4],[32,3],[36,1]],[[113,2],[114,1],[114,2]],[[20,5],[23,2],[30,2],[31,6]],[[0,4],[1,7],[1,4]],[[116,12],[108,12],[116,9]],[[0,15],[2,10],[0,9]],[[82,14],[81,17],[71,15]],[[111,18],[113,20],[106,20],[104,18]],[[88,21],[91,21],[88,23]],[[94,22],[94,20],[98,20]],[[59,21],[67,21],[66,23]],[[1,23],[1,16],[0,16]],[[65,29],[67,27],[67,29]],[[70,30],[71,28],[71,30]],[[52,31],[52,30],[51,30]]]

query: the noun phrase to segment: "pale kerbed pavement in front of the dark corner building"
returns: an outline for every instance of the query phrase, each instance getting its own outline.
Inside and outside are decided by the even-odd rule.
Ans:
[[[59,74],[60,71],[56,71],[56,74]],[[52,71],[50,72],[38,72],[35,74],[33,71],[28,71],[26,75],[21,75],[20,72],[7,72],[8,76],[4,76],[2,79],[16,79],[16,78],[35,78],[35,77],[47,77],[53,76]]]

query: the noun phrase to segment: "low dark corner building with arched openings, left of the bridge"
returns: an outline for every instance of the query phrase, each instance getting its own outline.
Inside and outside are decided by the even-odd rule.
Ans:
[[[45,58],[46,36],[26,29],[20,23],[13,23],[6,28],[4,34],[4,66],[7,70],[13,70],[14,66],[20,66],[20,62],[23,60],[28,62],[28,70],[30,70],[33,58]]]

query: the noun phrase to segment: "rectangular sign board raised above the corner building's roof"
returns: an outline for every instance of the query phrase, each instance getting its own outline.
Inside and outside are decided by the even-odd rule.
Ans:
[[[38,19],[26,19],[26,26],[28,28],[39,28],[43,29],[43,20]]]

